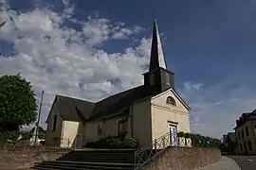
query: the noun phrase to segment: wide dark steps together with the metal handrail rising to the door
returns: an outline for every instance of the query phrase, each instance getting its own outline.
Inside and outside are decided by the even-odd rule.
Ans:
[[[172,145],[170,133],[166,133],[138,150],[73,150],[56,161],[35,163],[39,170],[135,170],[153,160],[165,148]]]

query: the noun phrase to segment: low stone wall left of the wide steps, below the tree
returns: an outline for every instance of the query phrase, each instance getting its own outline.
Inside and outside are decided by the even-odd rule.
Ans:
[[[1,170],[28,170],[37,161],[53,161],[70,149],[54,147],[0,148]]]

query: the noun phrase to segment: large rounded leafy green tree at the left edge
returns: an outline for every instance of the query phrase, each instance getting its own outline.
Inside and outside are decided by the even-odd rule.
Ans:
[[[0,77],[0,132],[16,131],[36,119],[32,86],[20,74]]]

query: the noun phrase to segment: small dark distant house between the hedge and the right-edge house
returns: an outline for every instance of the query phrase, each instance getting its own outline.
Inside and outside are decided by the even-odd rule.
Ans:
[[[238,146],[235,136],[235,132],[229,132],[228,134],[223,135],[223,143],[227,145],[226,151],[229,153],[237,153]]]

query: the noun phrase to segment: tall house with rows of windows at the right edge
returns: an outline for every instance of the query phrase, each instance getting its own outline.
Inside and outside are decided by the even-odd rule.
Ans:
[[[239,153],[256,154],[256,110],[243,113],[234,129]]]

